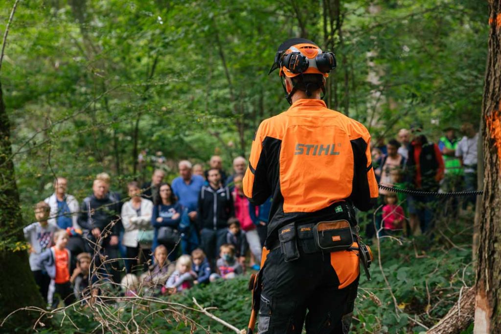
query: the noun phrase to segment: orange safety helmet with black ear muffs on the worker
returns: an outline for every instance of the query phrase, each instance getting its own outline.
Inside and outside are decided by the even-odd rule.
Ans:
[[[279,76],[294,78],[300,74],[321,74],[325,78],[336,68],[332,52],[323,52],[315,43],[303,38],[285,41],[275,55],[270,73],[280,69]]]

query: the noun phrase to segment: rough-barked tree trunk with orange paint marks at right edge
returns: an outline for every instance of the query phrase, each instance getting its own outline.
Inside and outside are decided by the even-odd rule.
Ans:
[[[482,102],[484,179],[475,333],[497,332],[501,328],[501,2],[488,3],[490,32]]]

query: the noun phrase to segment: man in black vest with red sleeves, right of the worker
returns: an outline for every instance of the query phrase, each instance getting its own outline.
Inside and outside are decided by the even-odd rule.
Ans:
[[[437,144],[428,142],[423,134],[423,126],[420,123],[411,125],[413,140],[409,147],[409,159],[407,160],[408,181],[418,191],[438,191],[439,182],[443,178],[444,165],[442,153]],[[436,206],[434,196],[407,197],[410,214],[411,233],[416,235],[428,231],[433,222],[433,213]],[[420,230],[419,230],[420,229]]]

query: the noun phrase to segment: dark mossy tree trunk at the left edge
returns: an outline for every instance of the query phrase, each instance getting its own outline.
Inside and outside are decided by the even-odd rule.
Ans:
[[[23,249],[23,217],[19,207],[19,193],[12,162],[10,122],[4,105],[0,83],[0,318],[24,306],[42,306],[42,296],[28,263],[28,252]],[[27,313],[18,312],[4,324],[14,329],[27,326]],[[33,318],[32,314],[29,318]]]

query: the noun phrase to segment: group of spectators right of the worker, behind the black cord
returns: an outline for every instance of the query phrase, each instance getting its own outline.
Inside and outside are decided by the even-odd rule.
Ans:
[[[447,127],[444,135],[434,143],[426,137],[422,124],[415,123],[410,130],[401,129],[396,139],[377,141],[372,147],[372,162],[377,181],[397,189],[423,192],[473,191],[477,184],[478,134],[470,123],[458,129]],[[459,210],[474,209],[475,196],[463,200],[458,197],[438,199],[436,195],[395,193],[379,190],[374,223],[366,226],[366,237],[428,233],[438,213],[456,217]],[[462,205],[459,206],[459,203]]]

